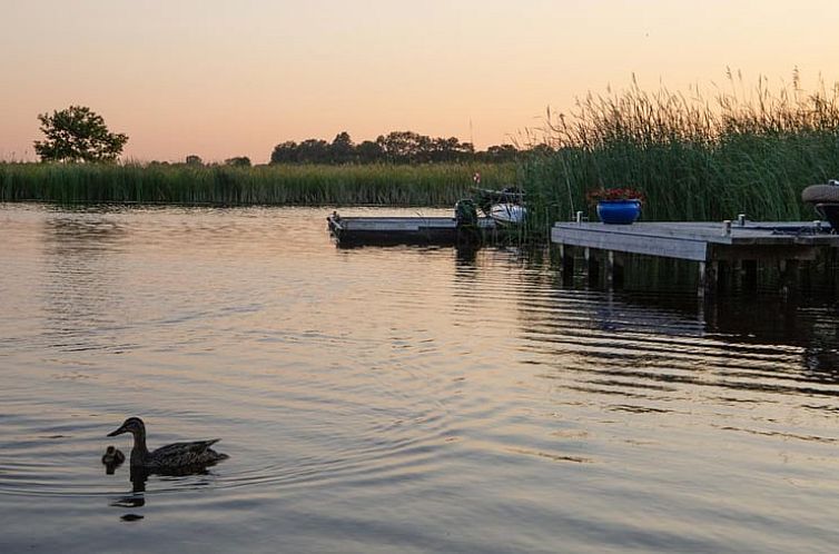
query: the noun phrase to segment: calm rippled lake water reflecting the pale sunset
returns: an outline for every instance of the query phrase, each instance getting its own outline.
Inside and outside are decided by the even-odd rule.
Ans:
[[[832,298],[337,249],[328,211],[0,205],[0,551],[836,551]],[[130,415],[230,458],[136,491]]]

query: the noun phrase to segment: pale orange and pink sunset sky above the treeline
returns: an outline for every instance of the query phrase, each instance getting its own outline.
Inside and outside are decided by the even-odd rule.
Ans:
[[[836,0],[0,0],[0,159],[89,106],[124,159],[267,161],[392,130],[511,141],[575,97],[839,79]]]

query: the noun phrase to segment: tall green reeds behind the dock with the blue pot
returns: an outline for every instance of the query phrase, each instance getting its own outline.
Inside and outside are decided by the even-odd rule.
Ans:
[[[553,150],[521,168],[532,222],[569,220],[588,191],[631,187],[646,196],[646,220],[810,220],[801,190],[839,178],[839,88],[751,90],[729,76],[712,100],[636,83],[589,95],[569,115],[549,113],[543,140]]]

